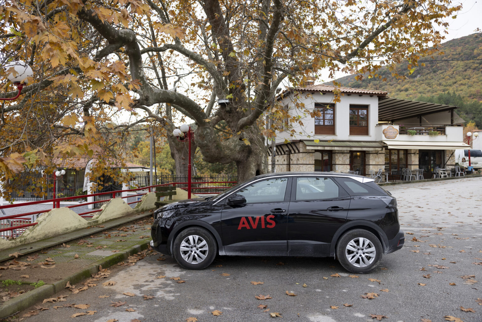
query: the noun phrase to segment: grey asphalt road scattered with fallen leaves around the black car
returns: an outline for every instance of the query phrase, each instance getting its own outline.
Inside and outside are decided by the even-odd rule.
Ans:
[[[271,321],[269,314],[278,312],[282,317],[274,319],[300,322],[364,322],[372,321],[371,314],[386,316],[379,318],[388,322],[442,322],[445,316],[481,322],[482,300],[476,300],[482,298],[482,281],[471,282],[482,280],[482,265],[473,264],[482,263],[481,186],[482,180],[474,178],[386,187],[398,199],[406,242],[366,275],[350,277],[331,258],[304,257],[218,256],[208,268],[188,271],[171,257],[158,261],[159,254],[153,253],[135,266],[115,266],[109,277],[86,291],[66,290],[66,301],[42,304],[49,310],[25,321],[182,322],[193,317],[199,322],[250,322]],[[171,279],[175,277],[185,282]],[[107,280],[116,283],[102,286]],[[378,296],[362,298],[366,293]],[[272,298],[258,300],[254,296],[259,294]],[[126,303],[113,307],[112,302]],[[90,307],[54,308],[68,304]],[[70,318],[89,310],[96,312]],[[214,316],[215,310],[222,315]]]

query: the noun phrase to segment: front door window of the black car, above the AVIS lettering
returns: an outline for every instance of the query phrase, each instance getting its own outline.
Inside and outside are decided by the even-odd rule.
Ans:
[[[258,181],[239,190],[236,194],[246,198],[246,203],[277,202],[284,200],[288,178]]]

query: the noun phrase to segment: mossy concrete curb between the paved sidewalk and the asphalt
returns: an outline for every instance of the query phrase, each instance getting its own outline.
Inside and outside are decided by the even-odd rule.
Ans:
[[[146,238],[140,244],[134,245],[121,252],[114,253],[106,258],[99,259],[91,266],[87,266],[63,280],[59,280],[53,284],[45,284],[39,288],[8,300],[0,305],[0,319],[4,319],[26,308],[29,308],[45,298],[52,297],[52,295],[65,289],[67,281],[69,281],[71,284],[75,284],[81,280],[91,277],[92,274],[96,274],[99,271],[99,266],[102,266],[102,268],[107,268],[122,262],[129,256],[147,249],[147,247],[149,247],[149,242],[150,239]]]

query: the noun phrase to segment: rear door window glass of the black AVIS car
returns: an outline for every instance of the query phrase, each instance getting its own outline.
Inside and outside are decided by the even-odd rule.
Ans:
[[[296,179],[295,200],[331,199],[339,195],[340,189],[331,178],[306,177]]]

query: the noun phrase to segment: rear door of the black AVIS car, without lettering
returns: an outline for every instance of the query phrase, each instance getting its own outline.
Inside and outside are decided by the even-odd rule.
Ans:
[[[294,178],[288,214],[288,255],[327,256],[336,230],[345,223],[347,192],[330,177]]]

